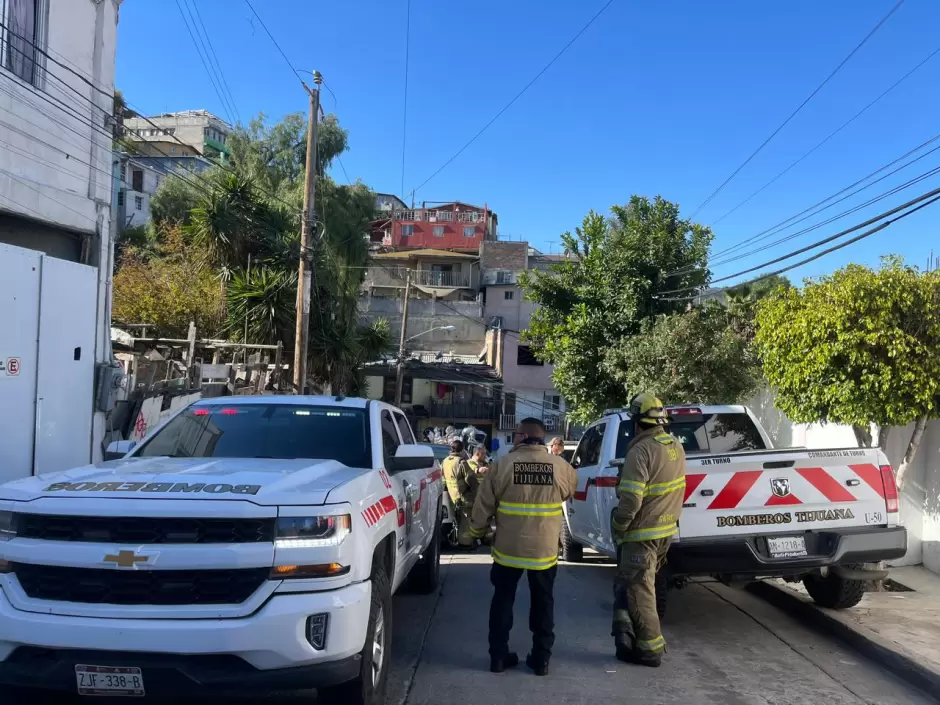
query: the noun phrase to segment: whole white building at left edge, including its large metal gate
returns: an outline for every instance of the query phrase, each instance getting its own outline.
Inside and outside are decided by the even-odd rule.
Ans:
[[[0,481],[102,457],[120,4],[0,2]]]

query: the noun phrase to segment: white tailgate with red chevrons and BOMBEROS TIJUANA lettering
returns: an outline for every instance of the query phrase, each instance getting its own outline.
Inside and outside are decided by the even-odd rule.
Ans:
[[[690,455],[679,540],[885,526],[877,449]]]

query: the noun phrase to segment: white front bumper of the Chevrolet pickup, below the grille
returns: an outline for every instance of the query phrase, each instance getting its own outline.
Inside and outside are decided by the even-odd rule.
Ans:
[[[97,619],[14,609],[0,590],[0,684],[75,692],[75,666],[141,669],[147,695],[270,692],[359,673],[371,584],[275,595],[243,619]],[[322,649],[307,620],[327,615]]]

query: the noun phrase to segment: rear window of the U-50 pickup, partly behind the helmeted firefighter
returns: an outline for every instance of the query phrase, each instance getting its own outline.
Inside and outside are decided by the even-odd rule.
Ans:
[[[675,418],[675,417],[674,417]],[[689,455],[721,454],[744,450],[765,450],[757,425],[747,414],[702,414],[678,417],[669,424],[669,432],[679,439]],[[634,424],[621,422],[617,438],[617,457],[625,458],[627,444],[633,439]]]

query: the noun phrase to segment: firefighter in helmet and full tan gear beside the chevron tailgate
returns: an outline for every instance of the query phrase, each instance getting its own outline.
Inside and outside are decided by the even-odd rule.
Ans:
[[[618,544],[613,637],[617,658],[659,666],[666,641],[656,611],[656,574],[678,532],[685,496],[685,451],[666,431],[663,403],[652,394],[630,402],[637,433],[627,446],[612,527]]]

